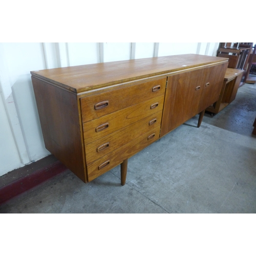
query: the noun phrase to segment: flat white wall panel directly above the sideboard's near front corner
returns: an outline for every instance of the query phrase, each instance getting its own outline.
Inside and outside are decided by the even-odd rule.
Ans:
[[[99,42],[69,42],[70,66],[99,63]]]

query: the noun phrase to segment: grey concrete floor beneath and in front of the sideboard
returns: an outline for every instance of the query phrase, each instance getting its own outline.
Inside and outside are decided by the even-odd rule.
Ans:
[[[0,206],[0,213],[256,213],[256,86],[214,117],[190,119],[84,184],[70,170]]]

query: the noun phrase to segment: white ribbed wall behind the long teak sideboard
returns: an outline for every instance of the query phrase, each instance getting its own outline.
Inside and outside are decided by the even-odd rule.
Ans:
[[[0,176],[46,157],[30,71],[116,60],[197,53],[216,56],[215,42],[0,44]]]

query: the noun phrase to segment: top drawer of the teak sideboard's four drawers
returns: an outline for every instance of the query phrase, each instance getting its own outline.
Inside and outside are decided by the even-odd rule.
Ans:
[[[82,122],[125,109],[165,92],[166,78],[81,98]]]

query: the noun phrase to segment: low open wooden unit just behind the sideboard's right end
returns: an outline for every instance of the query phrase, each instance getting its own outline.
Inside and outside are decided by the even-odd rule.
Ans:
[[[206,111],[217,114],[230,104],[236,98],[242,76],[243,70],[227,68],[219,99]]]

